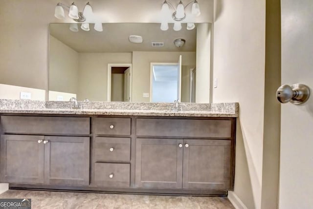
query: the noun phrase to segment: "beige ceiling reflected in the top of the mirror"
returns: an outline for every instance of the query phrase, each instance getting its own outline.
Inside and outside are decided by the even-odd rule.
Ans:
[[[201,23],[198,23],[201,24]],[[90,30],[69,30],[69,23],[51,23],[50,35],[80,53],[132,52],[132,51],[196,51],[197,24],[193,30],[182,24],[180,31],[173,30],[173,23],[167,31],[160,30],[159,23],[103,23],[103,32],[97,32],[90,24]],[[130,35],[142,36],[143,43],[129,42]],[[178,48],[175,39],[185,39]],[[164,42],[163,47],[152,47],[151,42]]]

